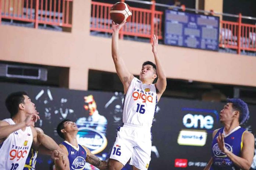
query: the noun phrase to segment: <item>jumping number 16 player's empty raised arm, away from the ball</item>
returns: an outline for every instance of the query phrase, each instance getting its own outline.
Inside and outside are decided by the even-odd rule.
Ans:
[[[152,52],[154,54],[154,60],[156,62],[156,71],[157,71],[157,82],[156,82],[156,88],[158,90],[157,92],[157,99],[159,100],[161,95],[163,94],[164,90],[166,89],[167,81],[166,81],[166,74],[163,70],[163,67],[160,63],[159,60],[159,55],[158,55],[158,37],[154,35],[152,37],[153,44],[152,44]]]

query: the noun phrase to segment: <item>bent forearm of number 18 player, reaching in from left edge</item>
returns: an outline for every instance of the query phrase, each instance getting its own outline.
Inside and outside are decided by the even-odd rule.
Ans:
[[[26,127],[25,122],[17,123],[15,125],[0,126],[0,139],[9,136],[11,133],[23,127]]]

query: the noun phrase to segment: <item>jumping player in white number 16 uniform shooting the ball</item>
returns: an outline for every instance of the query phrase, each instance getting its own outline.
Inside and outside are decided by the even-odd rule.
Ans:
[[[112,24],[112,58],[117,74],[124,85],[123,126],[109,155],[109,169],[120,170],[129,161],[134,170],[146,170],[151,155],[151,126],[155,108],[166,89],[166,75],[160,64],[157,47],[158,37],[152,37],[152,52],[155,63],[145,62],[139,78],[134,77],[118,53],[118,34],[125,22]],[[152,84],[157,78],[156,84]]]

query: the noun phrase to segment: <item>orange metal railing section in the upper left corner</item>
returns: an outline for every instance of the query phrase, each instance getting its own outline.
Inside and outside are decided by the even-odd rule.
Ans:
[[[73,0],[0,0],[1,18],[38,24],[71,27]]]

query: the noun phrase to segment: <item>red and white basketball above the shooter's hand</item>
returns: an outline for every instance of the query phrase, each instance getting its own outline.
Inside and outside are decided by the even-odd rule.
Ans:
[[[110,9],[110,18],[115,23],[122,23],[123,21],[130,21],[132,11],[128,4],[124,2],[115,3]]]

